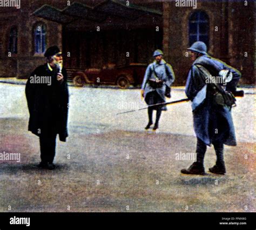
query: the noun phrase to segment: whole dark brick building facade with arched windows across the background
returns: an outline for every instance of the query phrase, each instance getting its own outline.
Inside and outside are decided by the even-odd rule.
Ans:
[[[176,1],[125,6],[127,1],[78,0],[70,8],[68,2],[30,0],[20,9],[0,8],[0,77],[28,78],[51,45],[63,49],[66,67],[73,69],[150,63],[154,49],[163,49],[175,84],[184,85],[191,65],[186,48],[204,39],[210,55],[242,72],[241,84],[254,84],[254,1],[198,0],[196,9]]]

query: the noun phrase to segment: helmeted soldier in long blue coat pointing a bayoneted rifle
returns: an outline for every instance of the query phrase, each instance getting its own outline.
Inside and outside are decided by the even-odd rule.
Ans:
[[[216,164],[209,171],[216,174],[225,174],[224,144],[235,146],[235,131],[231,116],[231,107],[214,102],[212,85],[207,84],[201,76],[198,66],[203,66],[211,76],[218,76],[221,70],[228,70],[233,78],[225,84],[226,91],[235,92],[241,73],[226,63],[207,55],[207,47],[203,42],[194,43],[188,50],[191,51],[193,65],[188,73],[185,93],[192,101],[194,131],[197,136],[197,161],[188,169],[181,170],[185,174],[205,174],[204,155],[206,146],[213,144],[217,155]]]

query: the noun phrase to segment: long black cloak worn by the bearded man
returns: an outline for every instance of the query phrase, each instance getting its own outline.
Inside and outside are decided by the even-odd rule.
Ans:
[[[29,131],[37,136],[50,133],[59,134],[65,141],[68,137],[69,92],[66,70],[62,69],[64,81],[57,80],[57,70],[50,70],[48,65],[38,66],[26,83],[26,99],[29,107]],[[51,85],[33,83],[31,76],[49,76]]]

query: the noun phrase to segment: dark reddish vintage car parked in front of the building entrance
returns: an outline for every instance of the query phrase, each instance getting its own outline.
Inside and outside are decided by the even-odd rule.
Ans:
[[[125,66],[107,64],[102,69],[75,71],[71,78],[75,86],[110,84],[117,85],[121,89],[127,89],[130,85],[142,84],[146,67],[147,64],[142,63],[131,63]]]

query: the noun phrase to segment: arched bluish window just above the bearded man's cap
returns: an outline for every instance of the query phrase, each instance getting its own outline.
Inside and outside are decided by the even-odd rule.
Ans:
[[[34,29],[35,53],[44,53],[46,49],[46,26],[39,23]]]

